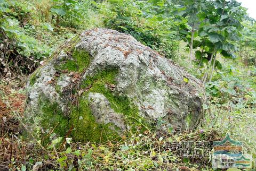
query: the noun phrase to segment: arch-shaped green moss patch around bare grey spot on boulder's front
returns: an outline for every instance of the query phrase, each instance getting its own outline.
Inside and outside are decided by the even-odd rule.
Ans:
[[[118,138],[119,127],[114,124],[97,123],[92,114],[89,102],[89,93],[102,93],[110,102],[110,106],[116,113],[124,115],[127,125],[132,125],[132,130],[137,130],[142,126],[142,117],[139,116],[139,109],[133,105],[127,97],[115,95],[106,85],[116,83],[115,76],[117,69],[99,71],[98,74],[87,77],[81,88],[87,89],[79,98],[79,105],[72,107],[70,114],[70,124],[73,127],[71,135],[76,141],[105,142]],[[135,119],[136,118],[136,119]],[[145,123],[144,123],[145,124]],[[142,129],[143,130],[143,129]]]

